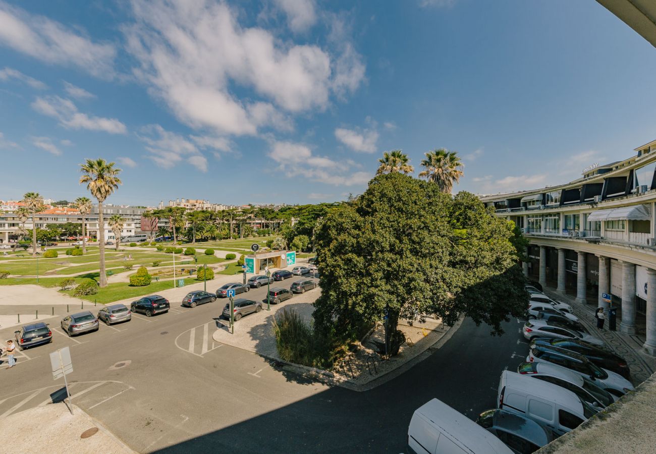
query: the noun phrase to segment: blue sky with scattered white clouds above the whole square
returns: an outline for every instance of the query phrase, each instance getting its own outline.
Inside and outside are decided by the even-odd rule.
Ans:
[[[577,178],[656,138],[656,49],[596,1],[0,0],[0,199],[314,203],[386,150],[455,190]]]

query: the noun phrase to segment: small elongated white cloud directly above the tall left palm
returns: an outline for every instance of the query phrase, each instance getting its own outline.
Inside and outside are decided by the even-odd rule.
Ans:
[[[89,129],[89,131],[105,131],[110,134],[127,132],[125,125],[117,119],[78,112],[71,100],[59,96],[38,97],[31,106],[43,115],[56,118],[60,125],[68,129]]]

